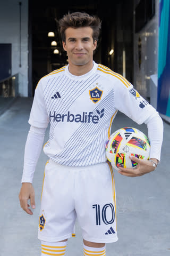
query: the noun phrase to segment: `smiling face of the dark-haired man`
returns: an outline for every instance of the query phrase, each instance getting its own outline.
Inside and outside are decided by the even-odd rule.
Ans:
[[[97,42],[92,38],[92,28],[67,28],[63,49],[67,52],[69,64],[82,66],[92,62]]]

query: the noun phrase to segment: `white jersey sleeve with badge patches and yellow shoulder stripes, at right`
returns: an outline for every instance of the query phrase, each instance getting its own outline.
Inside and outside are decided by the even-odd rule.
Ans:
[[[114,103],[116,109],[138,124],[142,124],[156,112],[125,78],[124,82],[118,80],[114,85]]]

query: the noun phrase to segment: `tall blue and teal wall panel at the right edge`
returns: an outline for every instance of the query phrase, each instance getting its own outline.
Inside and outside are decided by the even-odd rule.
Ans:
[[[158,100],[159,113],[170,117],[170,0],[159,1]]]

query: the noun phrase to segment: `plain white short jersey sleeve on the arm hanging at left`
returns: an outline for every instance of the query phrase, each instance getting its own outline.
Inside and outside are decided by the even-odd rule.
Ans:
[[[39,81],[35,90],[35,96],[33,98],[28,122],[30,125],[38,128],[46,128],[49,123],[49,117],[43,95],[43,84],[41,80]]]

